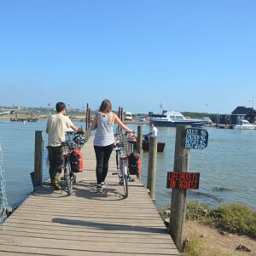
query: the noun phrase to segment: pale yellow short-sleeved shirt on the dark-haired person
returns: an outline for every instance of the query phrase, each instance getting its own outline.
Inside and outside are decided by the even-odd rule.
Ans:
[[[71,119],[62,113],[50,115],[46,125],[48,146],[61,146],[61,143],[65,141],[65,131],[67,131],[67,128],[71,125],[73,125]]]

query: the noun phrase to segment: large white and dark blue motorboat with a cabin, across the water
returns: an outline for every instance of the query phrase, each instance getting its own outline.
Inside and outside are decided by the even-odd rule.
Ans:
[[[199,127],[204,126],[207,121],[203,119],[188,119],[180,112],[163,110],[162,114],[152,114],[149,122],[155,126],[176,127],[177,125],[191,125],[192,127]]]

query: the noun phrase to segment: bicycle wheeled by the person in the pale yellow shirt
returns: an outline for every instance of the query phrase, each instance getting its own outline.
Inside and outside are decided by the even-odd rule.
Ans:
[[[70,154],[71,150],[77,148],[78,146],[82,146],[85,143],[85,139],[81,137],[83,132],[67,132],[67,140],[61,143],[63,147],[63,153],[61,154],[62,157],[62,166],[64,171],[64,180],[66,181],[67,185],[67,194],[73,194],[73,184],[77,182],[76,172],[73,172],[70,164]],[[78,136],[79,139],[78,139]]]

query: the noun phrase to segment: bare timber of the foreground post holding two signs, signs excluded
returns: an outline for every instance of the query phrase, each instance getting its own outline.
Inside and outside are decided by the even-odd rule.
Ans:
[[[177,125],[174,170],[173,172],[188,172],[189,170],[189,149],[182,147],[183,131],[189,128],[185,125]],[[172,189],[172,203],[169,232],[178,250],[183,249],[183,225],[186,215],[187,189]]]

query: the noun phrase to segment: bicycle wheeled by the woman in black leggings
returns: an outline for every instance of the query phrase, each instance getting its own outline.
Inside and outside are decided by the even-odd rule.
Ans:
[[[123,135],[121,136],[123,137]],[[116,166],[117,174],[119,177],[119,184],[124,187],[125,198],[128,197],[128,179],[129,179],[129,169],[128,169],[128,155],[124,150],[124,143],[119,142],[119,135],[116,135]]]

